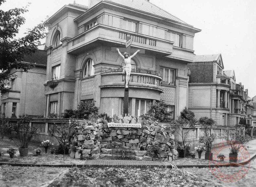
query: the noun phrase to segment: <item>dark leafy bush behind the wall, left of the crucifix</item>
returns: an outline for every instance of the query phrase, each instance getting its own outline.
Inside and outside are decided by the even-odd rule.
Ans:
[[[89,119],[91,115],[98,115],[100,108],[95,106],[95,101],[81,101],[75,110],[75,116],[79,119]]]

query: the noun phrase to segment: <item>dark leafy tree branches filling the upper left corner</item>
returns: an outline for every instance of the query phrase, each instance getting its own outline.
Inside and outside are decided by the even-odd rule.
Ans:
[[[6,0],[0,0],[2,5]],[[38,51],[37,45],[39,39],[45,38],[47,24],[41,22],[31,30],[27,31],[27,35],[15,39],[19,32],[19,27],[25,23],[25,18],[21,16],[28,12],[27,7],[14,8],[9,11],[0,10],[0,92],[7,92],[5,88],[5,79],[12,78],[9,70],[23,69],[28,71],[32,68],[29,64],[20,63],[24,56],[32,55]]]

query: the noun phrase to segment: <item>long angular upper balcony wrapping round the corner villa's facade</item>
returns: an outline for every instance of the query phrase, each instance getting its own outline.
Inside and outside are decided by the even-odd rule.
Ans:
[[[139,49],[147,49],[155,51],[161,55],[172,54],[172,41],[150,37],[135,32],[124,31],[122,29],[113,28],[110,26],[98,24],[93,28],[82,32],[73,39],[68,41],[68,53],[78,54],[85,49],[101,44],[102,41],[109,43],[110,46],[120,47],[120,44],[125,46],[126,37],[131,36],[132,46]]]

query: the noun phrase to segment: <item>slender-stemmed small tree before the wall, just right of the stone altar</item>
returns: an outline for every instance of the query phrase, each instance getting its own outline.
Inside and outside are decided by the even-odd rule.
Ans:
[[[187,156],[188,152],[186,152],[186,139],[188,138],[188,135],[195,131],[195,124],[197,123],[197,120],[195,119],[195,114],[188,110],[186,107],[181,111],[181,115],[178,117],[174,123],[172,123],[172,128],[174,131],[179,134],[179,136],[182,138],[182,144],[184,148],[184,157]]]

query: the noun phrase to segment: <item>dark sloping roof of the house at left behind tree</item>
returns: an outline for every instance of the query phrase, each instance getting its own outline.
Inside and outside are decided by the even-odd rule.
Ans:
[[[38,50],[38,52],[33,53],[32,55],[26,55],[22,62],[47,65],[47,51]]]

